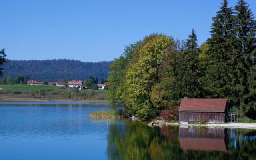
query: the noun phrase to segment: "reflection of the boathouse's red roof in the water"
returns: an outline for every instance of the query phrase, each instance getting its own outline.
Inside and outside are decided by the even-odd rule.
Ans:
[[[183,150],[227,151],[224,138],[179,138],[179,142]]]

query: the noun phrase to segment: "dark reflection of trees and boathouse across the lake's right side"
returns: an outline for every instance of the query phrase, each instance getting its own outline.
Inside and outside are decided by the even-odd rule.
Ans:
[[[110,160],[255,160],[256,130],[110,124]]]

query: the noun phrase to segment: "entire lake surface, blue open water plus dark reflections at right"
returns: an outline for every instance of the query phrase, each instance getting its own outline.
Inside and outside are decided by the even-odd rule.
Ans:
[[[0,102],[0,160],[255,160],[256,130],[96,120],[108,104]]]

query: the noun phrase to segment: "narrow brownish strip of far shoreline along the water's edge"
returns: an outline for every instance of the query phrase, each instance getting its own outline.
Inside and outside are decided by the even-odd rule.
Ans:
[[[2,102],[89,102],[89,103],[108,103],[108,100],[71,100],[71,99],[50,99],[50,98],[21,98],[0,96]]]

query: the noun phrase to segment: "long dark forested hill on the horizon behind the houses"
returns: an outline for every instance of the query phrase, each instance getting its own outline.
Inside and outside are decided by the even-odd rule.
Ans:
[[[103,62],[81,62],[79,60],[7,60],[4,64],[4,77],[12,78],[22,74],[29,76],[32,80],[56,82],[62,78],[69,80],[84,80],[89,76],[106,78],[111,61]]]

